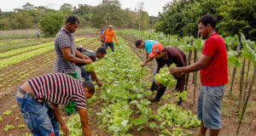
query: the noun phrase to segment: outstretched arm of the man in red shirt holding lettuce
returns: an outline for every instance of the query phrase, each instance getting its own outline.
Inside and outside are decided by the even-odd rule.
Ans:
[[[201,55],[201,59],[193,65],[183,66],[183,67],[174,67],[170,70],[172,74],[179,74],[181,72],[191,72],[191,71],[199,71],[204,69],[207,66],[207,63],[212,58],[210,55]]]

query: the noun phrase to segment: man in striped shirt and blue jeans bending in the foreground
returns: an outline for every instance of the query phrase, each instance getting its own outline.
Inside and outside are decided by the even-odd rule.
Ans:
[[[34,77],[25,82],[17,90],[16,101],[27,127],[34,136],[59,136],[59,123],[65,136],[69,135],[58,104],[67,105],[73,101],[78,107],[83,134],[87,136],[91,135],[91,131],[86,99],[94,93],[95,88],[91,82],[82,83],[67,74],[54,73]]]

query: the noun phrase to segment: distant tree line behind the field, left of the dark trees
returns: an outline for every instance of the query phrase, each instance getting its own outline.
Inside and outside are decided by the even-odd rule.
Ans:
[[[56,29],[54,27],[63,25],[66,17],[71,14],[79,18],[80,27],[102,28],[111,24],[119,28],[145,30],[154,26],[157,17],[149,16],[143,8],[143,3],[137,3],[135,9],[123,9],[118,0],[102,0],[96,6],[79,4],[75,7],[64,3],[59,10],[26,3],[22,8],[15,8],[11,12],[0,10],[0,30],[35,29],[46,24],[49,25],[48,30]]]

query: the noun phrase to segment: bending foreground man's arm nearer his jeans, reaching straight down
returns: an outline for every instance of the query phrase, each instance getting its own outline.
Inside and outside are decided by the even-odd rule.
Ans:
[[[62,117],[61,117],[61,113],[60,113],[60,110],[58,108],[58,105],[55,105],[53,103],[50,103],[50,106],[51,106],[51,109],[54,111],[55,113],[55,118],[56,120],[60,123],[61,125],[61,130],[62,132],[65,134],[65,136],[68,136],[69,135],[69,130],[65,124],[65,122],[62,120]]]

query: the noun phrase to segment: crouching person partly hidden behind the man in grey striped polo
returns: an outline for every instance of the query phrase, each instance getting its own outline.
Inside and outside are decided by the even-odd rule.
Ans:
[[[96,58],[104,58],[105,54],[107,54],[105,48],[97,48],[96,52],[89,49],[79,48],[79,52],[89,56],[92,62],[96,62]],[[95,71],[85,71],[84,64],[77,64],[77,67],[79,68],[78,77],[80,81],[82,81],[82,77],[84,77],[84,81],[90,81],[92,79],[93,81],[96,81],[99,87],[102,86],[102,82],[99,81]]]

